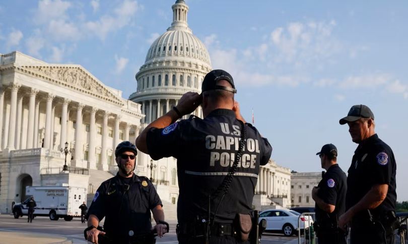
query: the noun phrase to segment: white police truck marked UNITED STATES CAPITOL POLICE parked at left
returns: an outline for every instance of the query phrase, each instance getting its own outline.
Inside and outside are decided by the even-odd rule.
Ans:
[[[27,187],[26,195],[28,199],[13,207],[16,219],[27,216],[27,203],[31,196],[37,204],[34,216],[49,216],[51,220],[64,218],[65,221],[71,221],[74,217],[81,217],[79,206],[87,201],[87,190],[80,187]]]

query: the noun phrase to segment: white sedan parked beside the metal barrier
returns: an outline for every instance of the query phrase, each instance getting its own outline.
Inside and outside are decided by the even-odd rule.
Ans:
[[[291,212],[289,209],[269,209],[259,214],[259,219],[266,220],[266,230],[282,232],[285,236],[292,236],[299,229],[308,228],[313,224],[313,220],[300,217],[300,226],[298,226],[299,215]]]

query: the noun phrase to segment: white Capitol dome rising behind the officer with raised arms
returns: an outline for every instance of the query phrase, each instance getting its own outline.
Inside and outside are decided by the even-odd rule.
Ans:
[[[188,28],[184,0],[177,0],[172,10],[173,22],[149,48],[135,75],[137,91],[129,97],[142,104],[145,123],[165,114],[184,93],[200,93],[203,78],[212,70],[206,46]],[[200,108],[193,114],[202,117]]]

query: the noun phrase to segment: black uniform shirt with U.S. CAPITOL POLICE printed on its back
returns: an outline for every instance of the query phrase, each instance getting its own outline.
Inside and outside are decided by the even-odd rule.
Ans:
[[[218,221],[231,221],[235,214],[249,212],[259,172],[272,151],[269,142],[250,124],[245,124],[246,143],[228,194],[217,212]],[[208,214],[208,196],[214,194],[230,170],[238,151],[241,124],[230,109],[216,109],[206,118],[190,116],[147,135],[150,156],[177,158],[179,223]],[[214,197],[215,198],[215,197]],[[211,202],[211,213],[221,194]]]

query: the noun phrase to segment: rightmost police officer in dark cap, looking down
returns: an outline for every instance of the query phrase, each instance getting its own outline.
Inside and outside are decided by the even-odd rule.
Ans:
[[[346,212],[339,227],[351,223],[351,243],[394,243],[398,223],[396,205],[396,163],[391,148],[374,132],[374,114],[366,105],[354,105],[340,119],[348,124],[354,152],[347,177]]]

